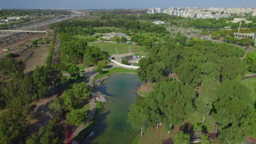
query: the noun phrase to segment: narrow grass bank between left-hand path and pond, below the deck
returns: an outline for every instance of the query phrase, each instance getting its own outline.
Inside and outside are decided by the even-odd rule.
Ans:
[[[91,128],[94,126],[95,122],[97,121],[98,115],[100,114],[101,111],[101,103],[97,102],[96,103],[96,107],[95,107],[95,113],[94,113],[94,117],[92,117],[91,121],[86,125],[86,127],[80,131],[80,133],[74,137],[74,140],[80,141],[84,138],[84,136],[86,134],[89,133],[89,131],[91,130]]]

